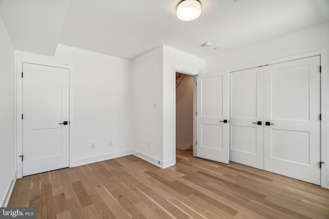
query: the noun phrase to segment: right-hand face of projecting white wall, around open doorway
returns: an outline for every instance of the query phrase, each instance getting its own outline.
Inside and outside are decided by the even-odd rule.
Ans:
[[[205,59],[163,46],[163,166],[176,164],[174,133],[174,90],[176,70],[182,73],[205,73]]]

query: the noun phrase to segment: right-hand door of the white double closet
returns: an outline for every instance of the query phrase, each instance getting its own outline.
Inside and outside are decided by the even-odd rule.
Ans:
[[[264,67],[264,169],[320,185],[320,56]]]

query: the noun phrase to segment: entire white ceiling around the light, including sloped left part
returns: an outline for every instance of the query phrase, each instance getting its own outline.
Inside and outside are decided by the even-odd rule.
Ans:
[[[163,44],[206,58],[329,21],[329,0],[200,0],[191,22],[176,17],[179,1],[0,0],[0,15],[16,50],[63,44],[127,59]]]

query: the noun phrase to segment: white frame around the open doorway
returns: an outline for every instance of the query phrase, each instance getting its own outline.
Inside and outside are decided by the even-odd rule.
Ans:
[[[193,156],[196,156],[196,82],[198,74],[196,72],[182,69],[178,67],[173,68],[173,106],[174,106],[174,116],[173,116],[173,154],[174,154],[174,161],[176,164],[176,72],[182,74],[188,74],[193,76]]]

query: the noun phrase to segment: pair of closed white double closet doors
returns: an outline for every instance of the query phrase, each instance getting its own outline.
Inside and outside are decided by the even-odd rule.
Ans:
[[[230,161],[320,185],[320,56],[230,73]]]

